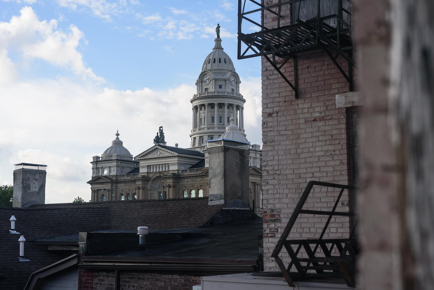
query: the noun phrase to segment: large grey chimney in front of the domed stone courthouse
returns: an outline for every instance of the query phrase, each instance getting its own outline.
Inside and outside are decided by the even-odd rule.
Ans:
[[[247,142],[224,138],[207,141],[209,205],[249,208],[249,147]]]

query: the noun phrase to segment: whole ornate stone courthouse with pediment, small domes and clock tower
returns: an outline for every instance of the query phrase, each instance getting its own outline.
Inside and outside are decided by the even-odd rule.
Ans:
[[[214,43],[197,79],[197,94],[191,99],[191,148],[166,146],[164,139],[160,142],[160,127],[158,142],[155,139],[154,146],[133,158],[117,132],[112,146],[91,162],[92,201],[207,197],[207,141],[222,138],[229,143],[244,142],[243,147],[249,149],[250,206],[262,214],[262,150],[247,141],[240,78],[223,52],[221,39]]]

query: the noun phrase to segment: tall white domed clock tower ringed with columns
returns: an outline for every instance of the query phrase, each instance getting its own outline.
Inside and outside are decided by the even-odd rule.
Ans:
[[[240,77],[232,60],[223,51],[221,39],[214,39],[213,51],[204,60],[196,81],[197,93],[190,100],[193,111],[191,148],[202,150],[206,141],[226,132],[231,115],[244,133],[243,110],[246,100],[240,94]]]

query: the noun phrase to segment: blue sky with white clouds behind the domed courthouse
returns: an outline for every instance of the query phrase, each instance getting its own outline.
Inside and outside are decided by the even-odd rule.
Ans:
[[[260,58],[237,59],[237,2],[0,0],[0,185],[13,184],[13,164],[44,164],[46,203],[89,201],[92,156],[117,130],[133,156],[159,126],[167,145],[189,148],[217,23],[247,139],[262,148]]]

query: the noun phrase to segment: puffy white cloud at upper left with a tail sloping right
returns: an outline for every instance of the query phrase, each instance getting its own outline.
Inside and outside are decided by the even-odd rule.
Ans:
[[[76,26],[69,26],[69,32],[65,33],[57,29],[56,20],[39,21],[31,7],[24,7],[20,12],[21,15],[13,16],[9,23],[0,23],[0,76],[11,81],[16,75],[16,68],[7,56],[8,47],[12,47],[27,61],[43,59],[54,66],[70,69],[83,79],[104,81],[85,65],[77,51],[83,33]],[[9,72],[11,74],[7,76]]]

